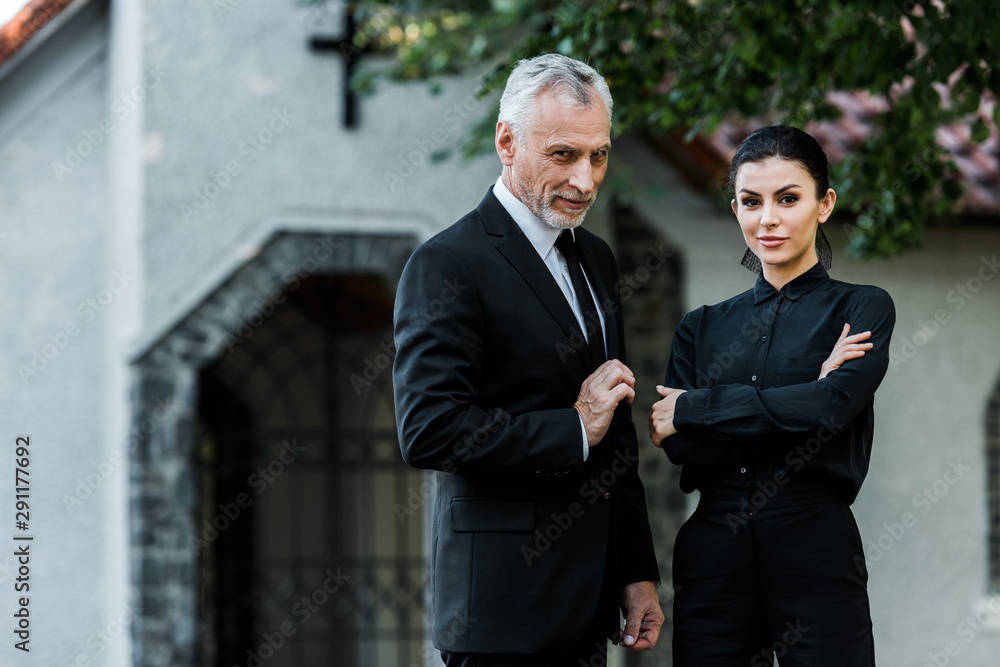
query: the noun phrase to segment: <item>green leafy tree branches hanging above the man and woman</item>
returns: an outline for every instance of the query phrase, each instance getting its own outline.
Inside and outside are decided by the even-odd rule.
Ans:
[[[357,76],[371,89],[373,76],[434,82],[489,63],[485,95],[518,59],[557,51],[606,76],[616,131],[688,140],[734,119],[802,127],[837,118],[832,93],[867,91],[887,109],[831,176],[857,216],[850,252],[887,257],[954,217],[961,185],[938,129],[962,123],[974,142],[989,136],[982,103],[1000,98],[991,12],[898,0],[368,1],[356,3],[359,32],[395,57]],[[991,120],[1000,126],[1000,105]],[[463,154],[492,150],[494,123],[491,108]]]

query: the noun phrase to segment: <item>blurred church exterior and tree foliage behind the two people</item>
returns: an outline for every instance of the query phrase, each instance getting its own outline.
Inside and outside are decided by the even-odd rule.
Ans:
[[[402,463],[392,409],[395,286],[413,249],[496,180],[510,65],[558,50],[604,72],[618,105],[586,224],[619,260],[640,434],[680,318],[753,283],[723,185],[736,145],[771,123],[820,139],[840,195],[831,274],[897,308],[853,508],[878,663],[993,667],[988,10],[0,3],[0,617],[17,630],[30,614],[30,651],[7,630],[0,664],[440,664],[426,614],[435,478]],[[671,546],[696,499],[642,435],[640,449],[668,627],[651,653],[610,662],[669,665]],[[26,535],[18,592],[12,538]]]

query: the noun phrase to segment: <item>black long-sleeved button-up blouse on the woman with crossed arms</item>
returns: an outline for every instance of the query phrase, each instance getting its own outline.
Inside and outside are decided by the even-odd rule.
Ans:
[[[833,280],[820,264],[780,291],[758,274],[753,289],[688,313],[665,381],[688,390],[677,400],[678,433],[663,444],[684,466],[681,489],[825,480],[854,502],[895,321],[885,290]],[[873,348],[820,380],[845,323],[851,334],[871,331]]]

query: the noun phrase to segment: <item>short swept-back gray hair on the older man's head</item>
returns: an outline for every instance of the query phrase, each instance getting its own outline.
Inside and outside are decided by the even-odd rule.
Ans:
[[[534,125],[536,101],[545,90],[552,91],[559,101],[575,103],[581,109],[590,107],[596,92],[611,123],[615,103],[601,73],[558,53],[544,53],[517,63],[500,98],[497,121],[507,123],[511,133],[519,138],[522,130],[528,131]]]

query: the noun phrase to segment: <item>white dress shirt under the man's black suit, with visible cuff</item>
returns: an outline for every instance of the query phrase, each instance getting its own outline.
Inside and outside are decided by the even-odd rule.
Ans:
[[[573,314],[576,315],[577,322],[580,324],[580,331],[586,337],[587,325],[583,318],[583,308],[580,307],[580,301],[576,298],[573,281],[569,275],[569,266],[566,264],[566,258],[555,247],[556,239],[562,230],[550,227],[539,220],[524,202],[515,197],[507,189],[507,186],[504,185],[502,175],[497,179],[496,185],[493,186],[493,194],[496,195],[496,198],[500,200],[500,204],[507,210],[507,213],[514,219],[514,222],[521,228],[521,231],[524,232],[524,235],[528,238],[538,256],[542,258],[542,262],[548,268],[549,273],[552,274],[556,284],[559,285],[559,289],[562,290],[570,308],[573,309]],[[575,231],[571,233],[573,233],[573,238],[575,239]],[[594,303],[600,303],[597,294],[594,293],[594,286],[591,284],[590,279],[587,278],[586,271],[583,272],[583,279],[587,282],[587,287],[590,288],[590,295],[594,299]],[[597,316],[601,320],[601,329],[607,331],[604,313],[600,308],[597,309]],[[604,355],[607,357],[607,334],[605,334],[604,340]],[[583,433],[583,460],[586,461],[590,455],[590,447],[587,445],[587,428],[583,425],[583,417],[580,417],[580,430]]]

